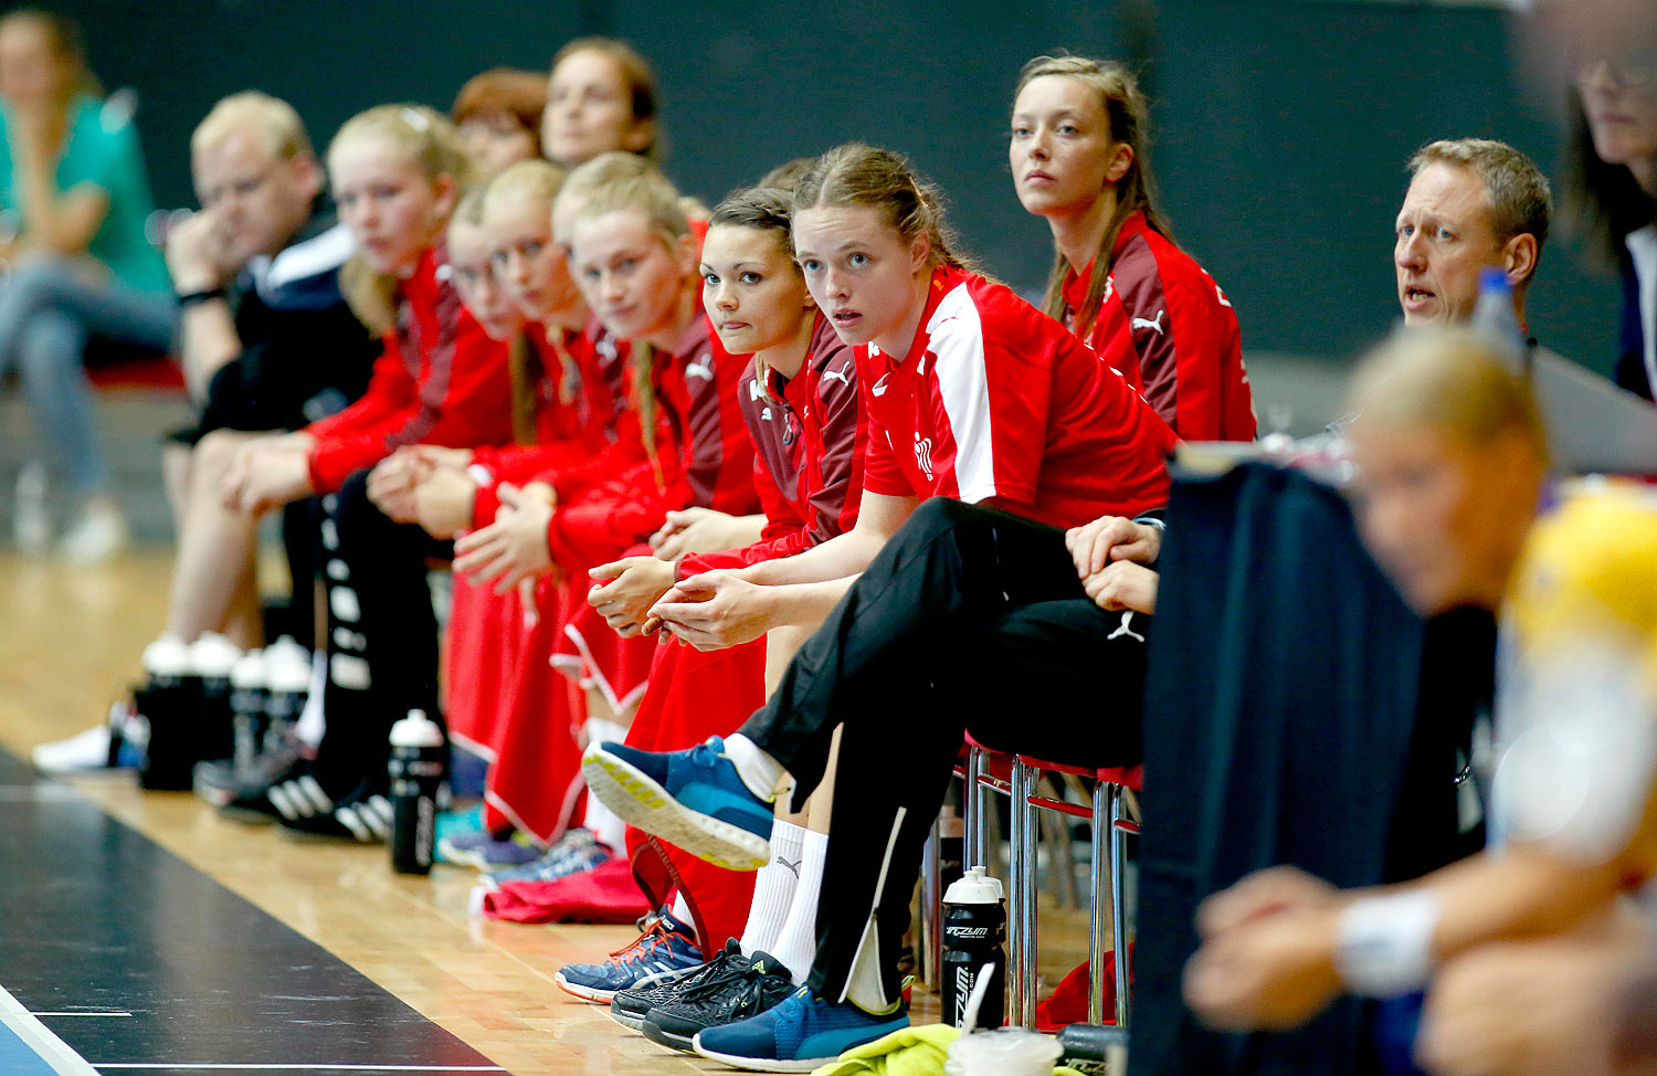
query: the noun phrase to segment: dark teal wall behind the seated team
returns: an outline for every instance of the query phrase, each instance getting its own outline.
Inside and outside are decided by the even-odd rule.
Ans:
[[[1158,5],[757,0],[76,0],[104,83],[141,95],[161,204],[191,204],[189,131],[257,86],[313,138],[386,99],[446,108],[495,63],[545,66],[575,33],[655,58],[668,171],[716,199],[772,164],[863,138],[906,151],[949,196],[968,249],[1037,288],[1041,221],[1012,194],[1009,95],[1019,65],[1067,48],[1142,56],[1153,161],[1180,240],[1225,285],[1244,347],[1345,358],[1397,317],[1392,217],[1403,161],[1442,136],[1514,143],[1558,176],[1559,133],[1526,93],[1505,17],[1427,3],[1165,0]],[[1155,7],[1148,40],[1128,7]],[[1133,33],[1130,33],[1133,32]],[[1142,48],[1140,46],[1147,46]],[[1533,332],[1606,370],[1616,285],[1551,244]]]

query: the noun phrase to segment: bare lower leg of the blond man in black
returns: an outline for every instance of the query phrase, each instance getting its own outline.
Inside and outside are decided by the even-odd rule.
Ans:
[[[257,607],[252,565],[258,521],[219,501],[237,448],[257,436],[262,434],[217,429],[196,446],[167,608],[167,630],[184,640],[224,628],[239,599],[242,617],[250,600]]]

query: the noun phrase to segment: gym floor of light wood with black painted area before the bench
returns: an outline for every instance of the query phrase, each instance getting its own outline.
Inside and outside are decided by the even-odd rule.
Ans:
[[[169,572],[161,549],[91,570],[0,552],[0,751],[27,759],[108,713],[161,628]],[[399,877],[378,847],[225,822],[189,794],[143,794],[131,776],[65,789],[0,754],[0,988],[33,1011],[133,1011],[43,1018],[101,1073],[722,1071],[553,985],[558,967],[600,958],[635,930],[469,917],[472,877]],[[1084,912],[1044,912],[1054,981],[1085,945]],[[224,1006],[244,991],[278,1003]],[[920,1021],[936,1020],[936,996],[916,988],[916,1001]],[[252,1021],[247,1033],[237,1020]]]

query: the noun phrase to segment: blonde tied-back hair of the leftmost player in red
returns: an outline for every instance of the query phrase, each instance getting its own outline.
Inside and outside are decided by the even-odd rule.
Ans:
[[[456,187],[464,191],[476,174],[461,133],[442,113],[424,104],[376,104],[351,116],[328,143],[328,159],[333,161],[340,146],[356,139],[389,144],[418,167],[428,182],[449,176]],[[447,224],[441,221],[439,230]],[[361,254],[353,254],[340,267],[340,292],[351,313],[371,332],[384,335],[396,328],[398,280],[374,269]]]

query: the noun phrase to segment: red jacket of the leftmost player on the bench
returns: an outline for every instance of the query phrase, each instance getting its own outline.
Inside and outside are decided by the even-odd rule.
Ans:
[[[442,250],[421,255],[399,285],[398,328],[374,360],[363,398],[305,428],[316,492],[404,444],[504,444],[512,439],[507,345],[490,340],[449,284]]]

